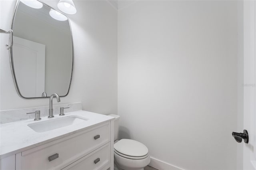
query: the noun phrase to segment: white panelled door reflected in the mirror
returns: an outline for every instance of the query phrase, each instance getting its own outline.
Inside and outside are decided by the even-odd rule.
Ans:
[[[16,81],[24,97],[41,97],[45,91],[45,45],[13,36]]]

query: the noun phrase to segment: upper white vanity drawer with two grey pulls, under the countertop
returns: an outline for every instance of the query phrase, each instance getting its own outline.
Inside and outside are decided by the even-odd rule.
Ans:
[[[97,127],[89,128],[82,132],[26,150],[21,153],[21,160],[16,162],[20,162],[18,169],[22,170],[61,169],[109,141],[110,125],[109,123],[104,123]],[[49,161],[49,157],[52,159],[51,161]]]

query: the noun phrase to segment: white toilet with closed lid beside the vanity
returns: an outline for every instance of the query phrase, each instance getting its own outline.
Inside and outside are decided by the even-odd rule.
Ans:
[[[114,163],[115,168],[123,170],[144,170],[150,162],[148,148],[131,139],[117,140],[119,115],[108,115],[115,117],[114,121]],[[117,166],[117,167],[116,167]]]

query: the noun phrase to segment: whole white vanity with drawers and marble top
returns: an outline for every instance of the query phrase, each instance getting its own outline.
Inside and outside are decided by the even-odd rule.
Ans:
[[[80,110],[2,124],[0,132],[0,170],[114,170],[114,117]]]

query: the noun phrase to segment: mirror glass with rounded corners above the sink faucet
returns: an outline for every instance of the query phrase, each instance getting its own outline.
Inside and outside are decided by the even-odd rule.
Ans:
[[[73,40],[68,18],[38,0],[18,0],[12,26],[10,63],[20,97],[68,95]]]

